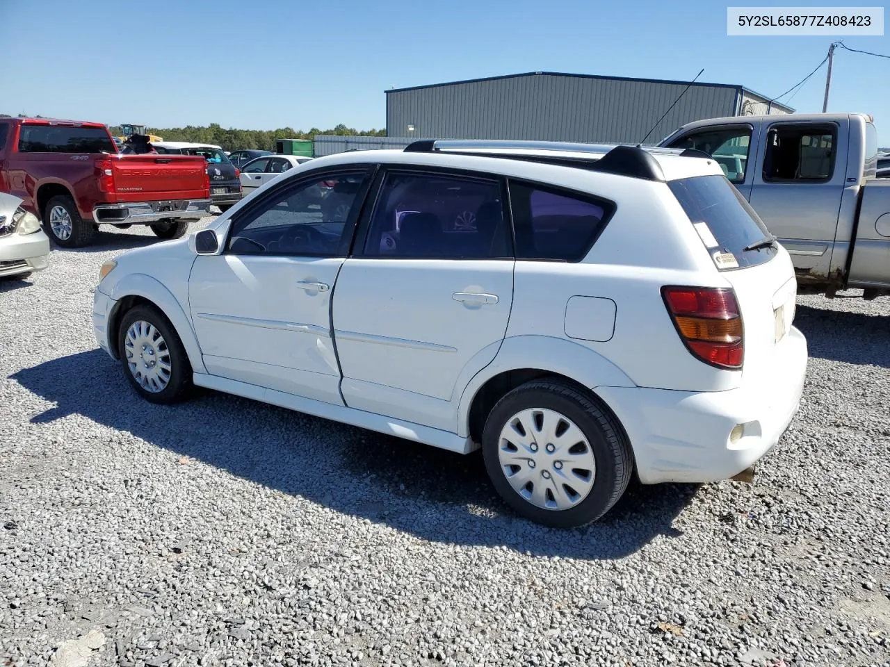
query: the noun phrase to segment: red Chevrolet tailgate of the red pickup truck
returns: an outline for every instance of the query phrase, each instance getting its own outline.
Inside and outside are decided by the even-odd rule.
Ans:
[[[121,155],[112,165],[117,202],[210,197],[203,157]]]

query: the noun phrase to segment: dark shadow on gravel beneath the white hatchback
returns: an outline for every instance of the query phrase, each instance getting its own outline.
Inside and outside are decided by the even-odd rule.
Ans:
[[[85,378],[91,378],[89,385]],[[431,542],[503,546],[538,556],[618,559],[659,536],[698,486],[631,483],[585,528],[559,531],[517,518],[490,486],[481,454],[453,454],[284,408],[199,392],[178,406],[137,398],[101,350],[57,358],[12,375],[54,404],[34,424],[83,415],[151,445],[239,478]]]

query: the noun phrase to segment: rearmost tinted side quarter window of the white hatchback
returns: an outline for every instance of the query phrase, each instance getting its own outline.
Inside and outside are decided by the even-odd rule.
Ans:
[[[562,189],[510,181],[517,260],[581,261],[615,205]]]

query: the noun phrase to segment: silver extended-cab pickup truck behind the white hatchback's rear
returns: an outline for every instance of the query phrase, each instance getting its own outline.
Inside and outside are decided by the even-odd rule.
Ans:
[[[890,294],[890,179],[866,114],[788,114],[689,123],[659,146],[714,157],[791,255],[800,292]]]

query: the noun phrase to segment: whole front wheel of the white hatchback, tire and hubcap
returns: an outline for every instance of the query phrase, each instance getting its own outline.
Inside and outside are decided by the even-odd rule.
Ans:
[[[191,389],[191,364],[170,321],[153,306],[125,312],[117,351],[126,379],[151,403],[175,403]]]

